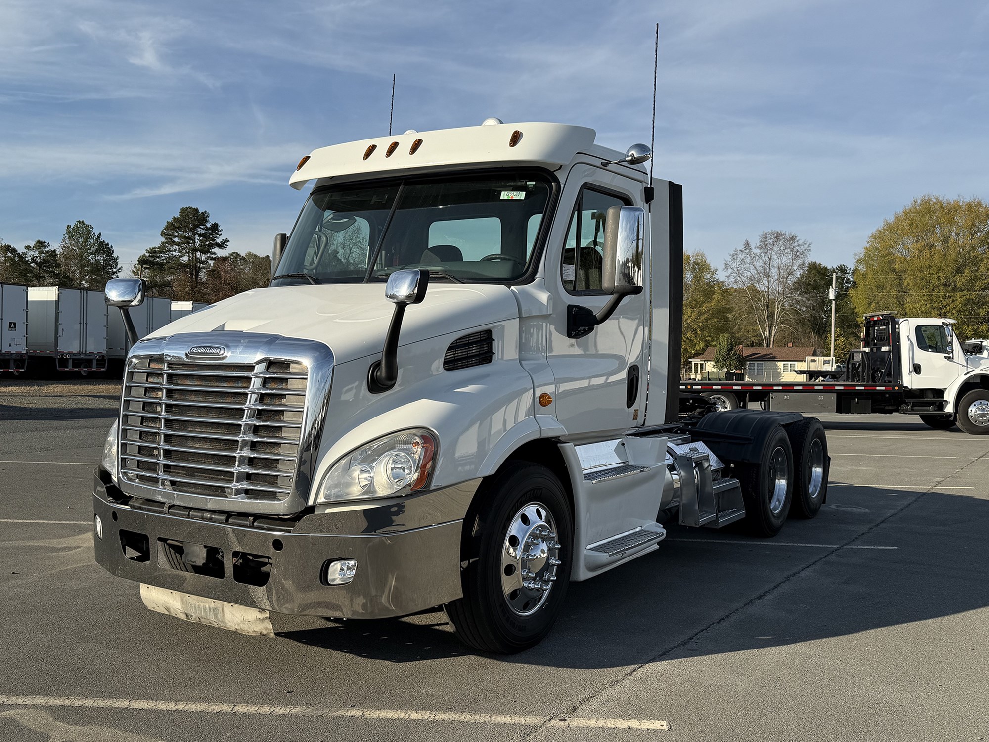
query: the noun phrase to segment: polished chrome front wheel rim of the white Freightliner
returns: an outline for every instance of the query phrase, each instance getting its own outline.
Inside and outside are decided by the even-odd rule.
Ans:
[[[560,567],[553,513],[529,503],[515,513],[501,548],[501,592],[516,615],[532,615],[546,603]]]

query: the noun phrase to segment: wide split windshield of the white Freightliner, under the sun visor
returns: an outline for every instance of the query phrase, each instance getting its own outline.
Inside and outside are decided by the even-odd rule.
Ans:
[[[382,281],[400,268],[440,281],[514,281],[533,259],[551,193],[549,177],[534,172],[320,188],[278,264],[286,277],[272,283]]]

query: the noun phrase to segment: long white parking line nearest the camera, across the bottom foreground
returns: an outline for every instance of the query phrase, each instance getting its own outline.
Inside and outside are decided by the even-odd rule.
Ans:
[[[320,708],[317,706],[255,705],[253,703],[204,703],[199,701],[139,700],[135,698],[80,698],[60,696],[3,696],[0,705],[63,706],[71,708],[127,708],[141,711],[186,711],[189,713],[248,713],[263,716],[346,716],[400,721],[452,721],[466,724],[508,726],[581,727],[600,729],[652,729],[665,731],[662,719],[613,719],[590,716],[509,716],[496,713],[454,711],[408,711],[387,708]]]

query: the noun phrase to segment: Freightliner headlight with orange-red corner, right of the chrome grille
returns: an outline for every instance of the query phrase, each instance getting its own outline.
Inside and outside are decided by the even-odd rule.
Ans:
[[[351,451],[322,480],[316,503],[407,495],[432,474],[436,441],[425,430],[392,433]]]

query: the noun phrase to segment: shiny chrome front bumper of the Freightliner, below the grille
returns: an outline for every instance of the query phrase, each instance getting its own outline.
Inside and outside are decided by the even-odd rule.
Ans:
[[[414,527],[402,529],[392,505],[385,508],[393,513],[388,517],[377,508],[360,517],[354,511],[309,515],[286,522],[281,532],[137,510],[107,479],[98,470],[93,512],[103,537],[94,535],[94,544],[97,563],[117,577],[280,613],[342,618],[407,615],[462,596],[461,529],[476,483],[403,504],[401,520]],[[451,514],[458,516],[445,519]],[[326,526],[357,532],[312,532]],[[176,543],[186,552],[209,554],[206,565],[185,565]],[[336,559],[357,560],[347,585],[324,583],[326,565]],[[258,570],[265,560],[270,566]],[[183,571],[188,569],[194,571]]]

